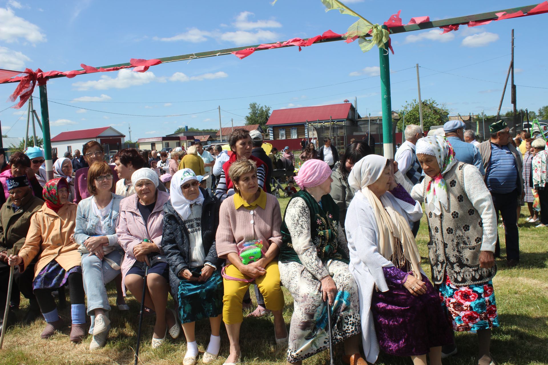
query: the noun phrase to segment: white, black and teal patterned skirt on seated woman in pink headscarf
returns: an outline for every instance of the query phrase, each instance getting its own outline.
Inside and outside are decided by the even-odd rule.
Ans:
[[[336,344],[362,332],[358,287],[348,264],[328,260],[325,266],[338,289],[331,317],[333,344]],[[305,266],[296,262],[279,263],[279,273],[294,300],[287,361],[295,363],[329,349],[327,306],[319,291],[320,282]]]

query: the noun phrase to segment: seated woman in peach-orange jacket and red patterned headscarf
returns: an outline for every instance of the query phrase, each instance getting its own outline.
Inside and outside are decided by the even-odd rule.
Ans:
[[[18,256],[9,257],[9,265],[24,271],[35,257],[35,279],[32,288],[45,321],[40,335],[52,337],[65,322],[59,317],[52,291],[68,282],[72,304],[70,340],[79,343],[85,336],[85,304],[82,268],[78,245],[71,241],[76,223],[76,205],[69,202],[68,184],[64,178],[48,181],[44,186],[45,203],[31,218],[25,244]]]

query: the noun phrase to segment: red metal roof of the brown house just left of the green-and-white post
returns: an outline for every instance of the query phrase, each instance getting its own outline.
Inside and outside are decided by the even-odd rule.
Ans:
[[[301,107],[276,109],[270,114],[266,125],[282,125],[306,123],[306,121],[347,119],[350,114],[351,103],[318,105],[315,107]]]

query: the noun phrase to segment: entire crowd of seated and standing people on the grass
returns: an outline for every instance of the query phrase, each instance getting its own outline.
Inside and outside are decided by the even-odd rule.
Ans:
[[[12,308],[22,293],[30,302],[24,322],[42,314],[47,339],[67,325],[52,292],[61,295],[68,285],[70,341],[89,334],[95,350],[109,338],[112,281],[119,310],[129,310],[131,293],[155,316],[153,348],[178,338],[182,328],[185,365],[199,356],[196,321],[210,323],[206,364],[219,356],[224,322],[230,365],[246,354],[242,310],[254,284],[253,315],[272,314],[288,364],[326,350],[332,333],[334,344],[344,344],[345,363],[374,363],[383,351],[410,356],[416,365],[428,355],[437,365],[456,353],[453,331],[477,333],[477,362],[492,364],[498,214],[513,266],[518,200],[532,200],[527,189],[538,196],[541,224],[548,224],[548,158],[546,143],[527,135],[522,157],[503,121],[489,130],[478,149],[473,139],[465,142],[470,134],[460,121],[446,123],[445,136],[424,137],[408,125],[395,160],[373,154],[363,141],[341,156],[329,138],[318,152],[305,143],[294,177],[299,190],[292,186],[283,216],[270,194],[272,157],[261,148],[262,136],[244,129],[229,135],[230,155],[201,143],[150,157],[128,148],[108,164],[102,146],[90,141],[78,160],[58,159],[49,181],[40,171],[40,149],[14,153],[0,173],[0,303],[14,266]],[[533,199],[530,221],[539,219],[535,209]],[[415,242],[423,215],[431,280]],[[289,331],[282,286],[294,301]],[[10,309],[2,326],[15,322]]]

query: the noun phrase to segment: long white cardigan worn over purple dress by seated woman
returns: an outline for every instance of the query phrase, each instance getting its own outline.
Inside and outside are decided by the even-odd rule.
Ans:
[[[398,213],[406,217],[410,223],[418,221],[423,216],[419,202],[415,202],[415,206],[412,206],[396,199],[390,193],[385,193],[385,196],[392,201]],[[406,209],[404,210],[403,207]],[[379,228],[373,207],[362,192],[357,192],[350,202],[346,212],[345,227],[350,251],[349,269],[358,285],[363,351],[366,360],[374,363],[379,356],[379,341],[376,338],[371,312],[373,288],[376,284],[380,291],[388,291],[383,267],[393,266],[393,264],[379,253]]]

